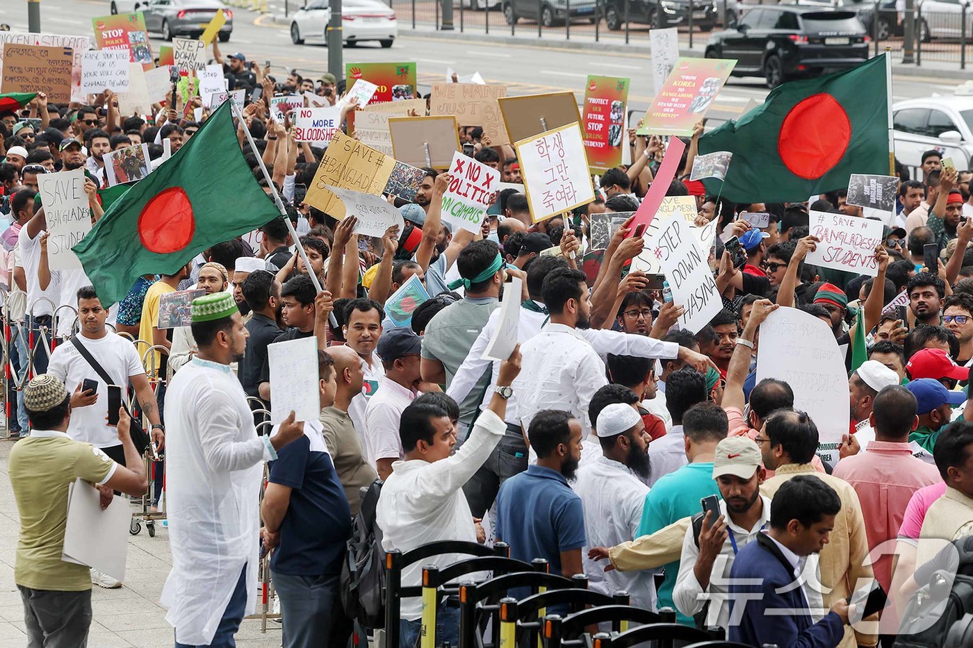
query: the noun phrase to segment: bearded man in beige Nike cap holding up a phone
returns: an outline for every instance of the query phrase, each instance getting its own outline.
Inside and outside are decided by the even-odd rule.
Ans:
[[[756,540],[770,522],[771,500],[760,494],[764,483],[760,464],[760,448],[746,437],[729,437],[717,444],[713,479],[723,496],[720,516],[714,520],[709,511],[697,514],[686,529],[672,599],[686,616],[705,610],[704,628],[730,627],[730,569],[739,549]]]

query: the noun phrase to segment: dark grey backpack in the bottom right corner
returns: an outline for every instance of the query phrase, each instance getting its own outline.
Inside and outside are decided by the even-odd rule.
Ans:
[[[933,575],[928,587],[912,595],[893,648],[944,646],[954,624],[973,613],[973,536],[954,540],[953,545],[959,554],[953,587],[947,590],[940,582],[937,588],[939,578]]]

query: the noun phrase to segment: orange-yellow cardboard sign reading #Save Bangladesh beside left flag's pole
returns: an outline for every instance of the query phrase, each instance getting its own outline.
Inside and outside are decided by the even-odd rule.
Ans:
[[[307,187],[305,202],[342,220],[344,205],[329,187],[379,196],[394,167],[394,159],[338,130],[314,172],[313,181]]]

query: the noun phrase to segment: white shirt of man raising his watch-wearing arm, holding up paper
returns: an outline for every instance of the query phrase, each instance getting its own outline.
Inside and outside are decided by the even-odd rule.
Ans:
[[[376,510],[382,549],[408,552],[440,540],[476,542],[473,514],[463,485],[480,470],[506,430],[500,417],[487,410],[477,417],[470,435],[455,454],[433,463],[422,459],[393,463],[392,474],[381,487]],[[459,558],[456,554],[439,554],[414,562],[402,570],[402,586],[418,586],[424,565],[445,567]],[[477,580],[469,574],[463,578]],[[422,599],[404,598],[401,616],[408,621],[421,617]]]

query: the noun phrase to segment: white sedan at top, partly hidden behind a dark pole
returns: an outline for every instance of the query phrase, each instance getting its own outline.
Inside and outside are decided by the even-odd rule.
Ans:
[[[299,9],[291,21],[291,41],[325,41],[325,29],[331,19],[328,0],[312,0]],[[399,35],[395,12],[379,0],[342,0],[342,34],[344,43],[378,41],[383,48],[392,47]]]

